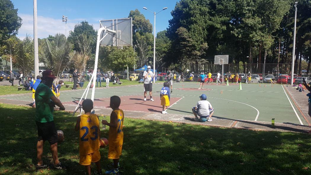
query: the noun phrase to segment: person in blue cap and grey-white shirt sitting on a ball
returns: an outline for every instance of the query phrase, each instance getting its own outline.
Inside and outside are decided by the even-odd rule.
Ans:
[[[192,108],[193,115],[195,116],[195,121],[212,121],[211,117],[214,113],[214,108],[211,103],[206,99],[206,95],[202,94],[200,96],[200,101],[198,101],[197,105]],[[200,116],[200,119],[197,116]],[[205,120],[202,120],[202,118],[205,118]]]

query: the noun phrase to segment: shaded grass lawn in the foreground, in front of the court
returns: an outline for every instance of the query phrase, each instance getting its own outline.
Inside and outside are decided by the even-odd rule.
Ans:
[[[67,170],[36,171],[35,110],[0,104],[0,111],[0,174],[84,174],[79,165],[78,132],[74,131],[76,118],[70,113],[54,112],[56,127],[65,135],[58,155]],[[311,174],[310,135],[129,118],[124,125],[119,168],[124,175]],[[108,128],[101,130],[101,137],[108,138]],[[110,170],[108,148],[101,148],[100,154],[103,170]],[[48,142],[44,144],[44,161],[52,163]]]

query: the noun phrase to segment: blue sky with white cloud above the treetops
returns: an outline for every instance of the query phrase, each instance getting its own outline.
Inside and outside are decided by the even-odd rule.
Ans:
[[[45,38],[56,33],[65,34],[65,23],[62,16],[68,17],[67,34],[74,29],[75,24],[82,20],[93,24],[94,29],[99,28],[99,20],[128,17],[131,10],[138,9],[149,19],[153,25],[153,14],[149,10],[159,12],[156,15],[156,32],[165,30],[172,18],[170,12],[178,0],[37,0],[38,8],[38,37]],[[24,38],[26,34],[33,37],[33,0],[12,0],[18,15],[23,19],[18,31],[18,37]],[[118,2],[118,3],[116,3]]]

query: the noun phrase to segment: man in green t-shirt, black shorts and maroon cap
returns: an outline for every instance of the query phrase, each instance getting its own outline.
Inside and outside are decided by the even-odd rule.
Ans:
[[[35,121],[38,128],[37,142],[37,159],[36,169],[48,168],[47,164],[42,161],[43,144],[45,140],[49,141],[51,153],[54,160],[55,169],[66,169],[58,160],[57,142],[58,135],[53,120],[53,111],[55,105],[59,106],[59,110],[65,110],[63,104],[54,96],[51,91],[53,80],[56,77],[51,70],[42,73],[42,81],[38,85],[35,92],[36,115]]]

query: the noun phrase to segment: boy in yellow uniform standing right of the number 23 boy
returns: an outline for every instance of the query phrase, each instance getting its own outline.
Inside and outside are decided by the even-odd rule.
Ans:
[[[119,174],[119,158],[122,154],[122,145],[123,145],[123,121],[124,113],[122,109],[119,109],[121,99],[118,96],[110,97],[110,107],[112,112],[110,114],[110,123],[106,120],[102,120],[103,125],[109,126],[109,151],[108,158],[114,160],[114,169],[106,171],[105,174]]]

